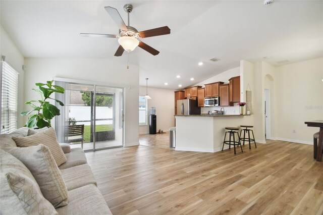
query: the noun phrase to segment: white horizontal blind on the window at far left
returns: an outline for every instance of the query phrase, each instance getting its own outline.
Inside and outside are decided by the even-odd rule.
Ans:
[[[1,134],[17,129],[18,72],[2,62],[1,80]]]

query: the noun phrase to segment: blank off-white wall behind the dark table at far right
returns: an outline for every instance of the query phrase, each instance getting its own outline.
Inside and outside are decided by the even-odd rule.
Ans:
[[[323,58],[277,68],[276,127],[281,140],[312,143],[318,128],[304,122],[323,119]],[[293,133],[293,130],[296,133]]]

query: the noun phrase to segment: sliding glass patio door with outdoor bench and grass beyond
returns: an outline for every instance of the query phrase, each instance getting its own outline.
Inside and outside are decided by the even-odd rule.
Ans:
[[[123,146],[123,88],[79,83],[61,85],[66,89],[66,98],[61,98],[66,108],[61,110],[61,119],[56,125],[61,142],[84,150]]]

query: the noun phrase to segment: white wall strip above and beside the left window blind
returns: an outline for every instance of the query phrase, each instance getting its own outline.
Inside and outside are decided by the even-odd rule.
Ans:
[[[24,71],[22,66],[24,65],[24,56],[20,53],[15,43],[11,40],[5,29],[0,26],[0,56],[6,56],[6,62],[10,64],[15,70],[19,72],[18,76],[18,128],[25,125],[25,121],[20,116],[20,113],[24,110]],[[0,59],[1,61],[1,59]],[[0,77],[2,73],[0,72]],[[1,79],[0,79],[1,80]]]

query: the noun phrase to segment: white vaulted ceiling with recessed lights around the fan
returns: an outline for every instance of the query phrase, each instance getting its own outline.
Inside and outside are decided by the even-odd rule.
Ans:
[[[149,78],[152,87],[194,85],[238,67],[240,60],[282,65],[323,57],[322,1],[274,0],[269,6],[261,0],[2,0],[0,4],[1,25],[24,57],[114,59],[125,67],[126,52],[114,57],[119,46],[116,38],[87,38],[79,33],[118,34],[104,7],[116,8],[126,22],[123,6],[132,4],[130,25],[138,31],[166,25],[171,29],[169,35],[141,39],[159,55],[139,47],[130,52],[130,64],[140,68],[140,85]],[[221,60],[209,61],[212,58]],[[198,66],[198,62],[204,64]]]

